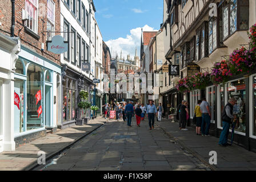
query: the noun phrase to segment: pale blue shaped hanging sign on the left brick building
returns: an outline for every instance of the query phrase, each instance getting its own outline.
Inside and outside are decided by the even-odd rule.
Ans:
[[[67,52],[69,43],[65,42],[61,35],[55,35],[51,41],[47,42],[47,51],[60,54]]]

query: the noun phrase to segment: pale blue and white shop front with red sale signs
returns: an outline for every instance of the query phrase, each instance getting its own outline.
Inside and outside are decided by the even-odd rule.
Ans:
[[[14,74],[14,140],[30,142],[56,131],[61,66],[23,47]]]

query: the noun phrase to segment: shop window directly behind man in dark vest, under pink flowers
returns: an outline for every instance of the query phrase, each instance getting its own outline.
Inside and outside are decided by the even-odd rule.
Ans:
[[[237,119],[234,119],[235,130],[245,133],[246,131],[246,85],[245,80],[237,80],[229,82],[227,86],[228,99],[235,98],[237,104],[234,105],[234,114]]]

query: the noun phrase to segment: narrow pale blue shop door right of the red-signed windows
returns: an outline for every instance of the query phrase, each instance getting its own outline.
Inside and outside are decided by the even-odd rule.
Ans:
[[[51,126],[51,86],[45,85],[45,126]]]

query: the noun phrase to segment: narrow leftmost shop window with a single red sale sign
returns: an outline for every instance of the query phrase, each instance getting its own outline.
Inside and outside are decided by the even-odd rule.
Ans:
[[[25,131],[24,126],[24,80],[14,81],[14,133]]]

